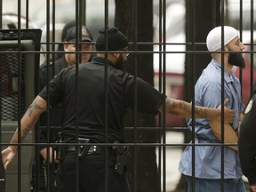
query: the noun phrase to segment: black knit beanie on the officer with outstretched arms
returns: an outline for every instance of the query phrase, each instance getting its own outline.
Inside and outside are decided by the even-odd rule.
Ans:
[[[123,50],[124,47],[128,46],[127,37],[119,31],[117,28],[108,28],[108,51],[118,51]],[[100,28],[99,36],[96,40],[96,50],[97,51],[105,51],[106,50],[106,42],[105,42],[106,34],[105,28]]]

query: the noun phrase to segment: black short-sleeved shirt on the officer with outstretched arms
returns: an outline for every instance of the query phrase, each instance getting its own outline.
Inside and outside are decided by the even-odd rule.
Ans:
[[[137,100],[139,112],[152,115],[158,113],[163,100],[162,93],[140,78],[135,79],[113,68],[109,61],[108,70],[105,71],[105,62],[104,58],[95,57],[92,62],[78,66],[77,77],[77,68],[72,67],[65,68],[52,79],[49,87],[50,105],[63,104],[64,134],[76,135],[77,128],[79,137],[92,142],[105,142],[106,133],[108,142],[124,142],[124,115],[127,108],[134,107],[134,100]],[[39,95],[47,100],[45,88]]]

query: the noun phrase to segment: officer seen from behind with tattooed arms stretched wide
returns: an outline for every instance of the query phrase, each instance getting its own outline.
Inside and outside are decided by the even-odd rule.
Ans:
[[[101,28],[99,33],[97,57],[78,68],[62,70],[52,79],[49,94],[45,87],[21,119],[22,141],[45,111],[48,99],[52,107],[63,103],[60,141],[65,148],[60,148],[57,176],[60,192],[129,191],[123,132],[125,112],[134,107],[134,92],[141,113],[156,115],[162,110],[163,100],[167,113],[182,117],[192,113],[190,103],[165,97],[142,79],[120,70],[128,57],[128,40],[123,33],[117,28]],[[196,117],[220,118],[220,111],[195,107]],[[233,111],[225,108],[225,112],[225,120],[232,121]],[[11,142],[18,142],[18,131]],[[2,151],[5,169],[16,153],[15,145]]]

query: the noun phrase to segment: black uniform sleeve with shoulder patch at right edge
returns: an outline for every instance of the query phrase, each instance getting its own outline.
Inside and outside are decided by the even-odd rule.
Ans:
[[[252,185],[256,183],[256,94],[247,104],[240,124],[238,152],[241,168]]]

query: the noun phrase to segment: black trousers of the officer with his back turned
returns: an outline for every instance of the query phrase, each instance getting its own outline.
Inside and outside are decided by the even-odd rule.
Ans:
[[[76,162],[75,152],[66,153],[57,172],[58,192],[129,192],[126,174],[114,171],[114,156],[107,166],[105,162],[105,155],[90,154]]]

